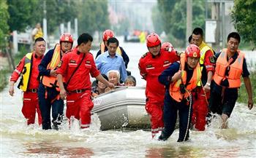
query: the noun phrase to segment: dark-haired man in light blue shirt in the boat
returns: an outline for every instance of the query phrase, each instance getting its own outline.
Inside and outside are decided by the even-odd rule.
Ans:
[[[124,82],[127,78],[127,71],[123,58],[121,55],[116,54],[118,44],[119,42],[115,37],[108,39],[108,51],[99,55],[95,63],[102,74],[107,74],[110,70],[119,71],[121,74],[121,82]]]

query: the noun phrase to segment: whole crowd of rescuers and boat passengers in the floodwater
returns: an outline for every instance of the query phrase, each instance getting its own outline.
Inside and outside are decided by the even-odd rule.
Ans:
[[[20,60],[10,77],[9,92],[13,96],[14,84],[21,76],[18,88],[23,91],[22,113],[27,125],[34,124],[37,112],[42,129],[59,130],[63,100],[67,99],[69,125],[74,118],[80,120],[80,128],[87,128],[94,106],[91,98],[117,87],[136,86],[135,77],[127,76],[129,58],[113,31],[105,31],[102,39],[104,45],[96,61],[89,52],[93,41],[89,33],[82,33],[73,49],[72,35],[64,33],[59,44],[45,55],[45,39],[35,39],[34,50]],[[203,29],[195,28],[185,52],[177,52],[170,42],[162,43],[157,33],[147,36],[148,52],[140,58],[138,68],[146,80],[145,108],[151,118],[152,138],[166,141],[174,131],[177,114],[178,142],[189,140],[190,129],[205,130],[212,114],[219,114],[220,127],[227,128],[241,76],[248,108],[252,109],[252,84],[244,53],[238,50],[240,42],[240,35],[232,32],[227,36],[227,48],[215,53],[203,42]],[[90,76],[96,78],[95,84],[91,85]]]

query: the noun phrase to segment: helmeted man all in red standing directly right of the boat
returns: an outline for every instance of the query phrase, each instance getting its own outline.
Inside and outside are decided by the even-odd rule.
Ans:
[[[139,61],[140,75],[146,80],[146,111],[151,116],[152,138],[164,127],[162,108],[164,106],[165,87],[158,82],[158,76],[171,63],[179,58],[176,52],[161,49],[161,40],[157,33],[146,38],[148,52]]]

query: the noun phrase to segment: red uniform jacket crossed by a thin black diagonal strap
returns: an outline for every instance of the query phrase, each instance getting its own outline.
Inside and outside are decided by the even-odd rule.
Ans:
[[[65,54],[61,58],[61,62],[58,66],[59,68],[57,69],[57,74],[65,76],[67,82],[73,71],[75,71],[81,62],[83,55],[84,53],[78,52],[77,48]],[[85,54],[85,58],[80,64],[78,70],[75,71],[75,74],[70,79],[70,82],[67,85],[67,90],[91,90],[90,74],[92,77],[96,77],[99,75],[99,71],[95,66],[94,56],[89,52]]]

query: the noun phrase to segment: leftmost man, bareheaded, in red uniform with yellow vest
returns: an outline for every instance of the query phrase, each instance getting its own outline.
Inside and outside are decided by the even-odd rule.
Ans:
[[[14,84],[18,81],[21,75],[18,88],[23,90],[23,107],[21,109],[23,116],[27,119],[27,125],[34,124],[36,111],[38,115],[38,124],[42,124],[41,112],[38,105],[37,88],[39,81],[37,76],[39,74],[38,65],[42,60],[45,53],[45,39],[39,37],[34,42],[34,52],[26,54],[18,66],[13,71],[10,77],[10,90],[11,96],[14,94]]]

